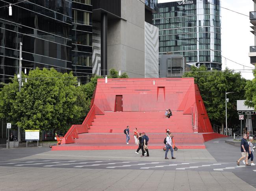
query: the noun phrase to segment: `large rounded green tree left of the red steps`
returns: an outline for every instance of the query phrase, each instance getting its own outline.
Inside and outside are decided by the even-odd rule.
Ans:
[[[81,122],[88,112],[87,95],[83,87],[77,86],[72,72],[35,69],[22,77],[27,82],[23,80],[20,92],[15,76],[0,93],[0,117],[21,129],[67,131],[70,124]]]

